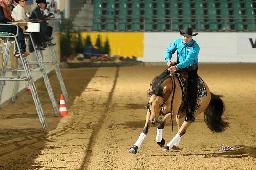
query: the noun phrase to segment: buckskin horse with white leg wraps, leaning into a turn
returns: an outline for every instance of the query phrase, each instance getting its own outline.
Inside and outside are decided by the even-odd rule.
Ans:
[[[153,79],[147,92],[150,99],[148,105],[145,106],[148,108],[146,124],[138,140],[128,152],[133,154],[137,153],[149,128],[156,123],[158,123],[156,142],[160,147],[164,147],[165,140],[162,138],[163,128],[166,124],[172,122],[173,130],[174,117],[176,117],[178,124],[178,132],[171,142],[164,147],[163,151],[169,152],[173,146],[178,147],[182,135],[185,134],[186,129],[191,124],[185,121],[186,110],[188,109],[186,91],[187,78],[188,75],[186,72],[178,69],[171,75],[160,74]],[[206,83],[199,76],[197,84],[195,117],[204,111],[204,122],[213,133],[225,131],[229,125],[228,122],[222,119],[225,106],[220,98],[221,96],[211,93]],[[163,116],[164,118],[162,119]]]

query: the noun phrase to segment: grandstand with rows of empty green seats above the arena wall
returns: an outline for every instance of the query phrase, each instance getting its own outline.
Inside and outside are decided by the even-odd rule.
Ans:
[[[256,0],[94,0],[93,8],[92,31],[256,31]]]

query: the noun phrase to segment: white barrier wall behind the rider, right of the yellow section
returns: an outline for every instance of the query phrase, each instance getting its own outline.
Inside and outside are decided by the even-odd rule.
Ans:
[[[196,33],[196,32],[194,32]],[[164,52],[171,42],[180,38],[179,32],[144,33],[143,62],[164,62]],[[199,44],[199,62],[256,63],[256,33],[199,32],[193,39]],[[177,54],[172,55],[176,60]]]

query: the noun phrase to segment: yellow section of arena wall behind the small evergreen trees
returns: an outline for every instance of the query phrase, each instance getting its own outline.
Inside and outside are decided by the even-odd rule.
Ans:
[[[92,45],[95,45],[98,35],[100,35],[102,45],[108,37],[110,54],[123,57],[143,57],[144,33],[82,32],[82,39],[85,39],[87,35],[90,35]]]

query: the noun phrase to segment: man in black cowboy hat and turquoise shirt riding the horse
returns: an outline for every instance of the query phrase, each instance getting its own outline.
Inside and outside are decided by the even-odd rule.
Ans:
[[[179,29],[180,31],[180,29]],[[183,32],[180,31],[182,38],[174,40],[165,51],[165,60],[167,65],[170,66],[165,74],[172,73],[176,69],[185,70],[188,73],[188,110],[186,112],[186,122],[195,121],[195,110],[197,109],[197,70],[198,70],[198,53],[199,45],[192,39],[198,33],[193,34],[193,29],[185,27]],[[172,63],[172,55],[177,51],[177,61]],[[167,71],[168,70],[168,71]]]

